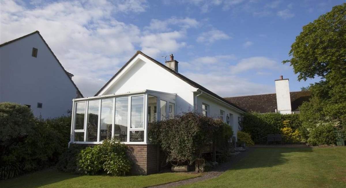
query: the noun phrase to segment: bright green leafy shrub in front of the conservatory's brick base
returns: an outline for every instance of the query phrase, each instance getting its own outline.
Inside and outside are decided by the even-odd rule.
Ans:
[[[113,176],[125,175],[131,169],[126,149],[125,144],[115,140],[104,140],[100,145],[82,149],[78,156],[79,170],[89,175],[102,172]]]

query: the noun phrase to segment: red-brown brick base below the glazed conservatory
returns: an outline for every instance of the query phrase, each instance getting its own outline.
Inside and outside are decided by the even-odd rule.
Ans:
[[[148,175],[158,172],[157,145],[127,145],[127,155],[133,162],[131,174]]]

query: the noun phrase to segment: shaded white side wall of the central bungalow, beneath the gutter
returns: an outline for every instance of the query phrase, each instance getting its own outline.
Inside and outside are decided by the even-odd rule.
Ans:
[[[241,114],[239,112],[236,112],[225,105],[221,105],[220,103],[216,103],[214,100],[210,99],[209,97],[200,95],[197,97],[197,112],[199,113],[202,113],[202,103],[209,105],[208,117],[219,118],[220,110],[222,110],[225,112],[224,122],[227,123],[226,122],[227,114],[230,114],[230,113],[233,114],[233,122],[230,122],[230,125],[232,125],[233,135],[237,137],[237,132],[239,130],[238,117],[241,117]],[[230,118],[230,121],[231,121],[231,118]]]

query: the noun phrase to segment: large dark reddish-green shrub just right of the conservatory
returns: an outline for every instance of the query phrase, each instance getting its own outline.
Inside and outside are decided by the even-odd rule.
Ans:
[[[222,121],[192,112],[151,123],[148,133],[149,140],[166,153],[166,161],[180,165],[192,164],[205,146],[222,146],[232,134]]]

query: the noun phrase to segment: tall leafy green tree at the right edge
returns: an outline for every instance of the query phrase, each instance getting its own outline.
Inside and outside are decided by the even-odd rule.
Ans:
[[[305,25],[289,55],[283,63],[293,66],[299,81],[321,79],[309,86],[312,98],[300,107],[307,134],[322,122],[346,132],[346,3]]]

